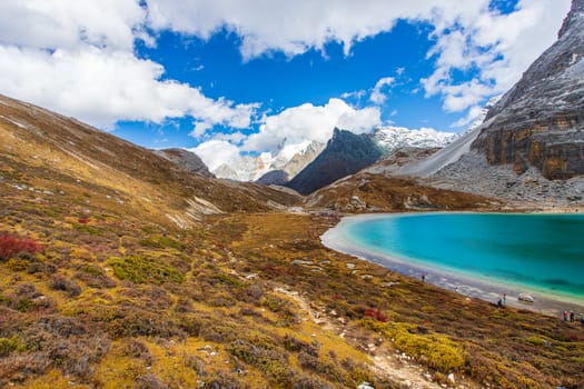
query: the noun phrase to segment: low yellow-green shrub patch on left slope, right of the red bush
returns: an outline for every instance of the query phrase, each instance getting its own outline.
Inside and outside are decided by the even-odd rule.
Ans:
[[[151,258],[138,256],[110,258],[109,265],[117,278],[133,283],[161,285],[165,282],[182,283],[185,281],[185,276],[175,267]]]

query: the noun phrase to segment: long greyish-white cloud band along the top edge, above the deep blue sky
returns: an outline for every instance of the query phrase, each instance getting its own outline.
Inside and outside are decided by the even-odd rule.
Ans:
[[[208,39],[221,28],[241,39],[240,51],[251,59],[270,51],[288,56],[310,48],[323,50],[330,41],[352,44],[388,31],[399,19],[438,19],[442,24],[469,19],[487,8],[487,0],[416,0],[390,2],[369,0],[327,1],[288,0],[148,0],[149,23],[155,29],[194,34]],[[441,26],[442,29],[442,26]]]

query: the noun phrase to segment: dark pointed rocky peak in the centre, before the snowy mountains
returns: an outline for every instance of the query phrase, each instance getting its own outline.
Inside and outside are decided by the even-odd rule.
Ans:
[[[325,150],[287,187],[308,194],[375,163],[382,150],[370,136],[335,129]]]

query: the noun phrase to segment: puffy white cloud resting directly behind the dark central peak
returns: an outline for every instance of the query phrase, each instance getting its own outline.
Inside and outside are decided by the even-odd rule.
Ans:
[[[304,103],[261,119],[259,131],[244,141],[242,150],[274,150],[286,140],[289,144],[306,140],[326,142],[339,127],[356,133],[370,131],[382,123],[378,108],[355,109],[340,99],[324,106]]]

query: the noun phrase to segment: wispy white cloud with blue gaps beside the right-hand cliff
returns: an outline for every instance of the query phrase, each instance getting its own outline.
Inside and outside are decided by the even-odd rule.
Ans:
[[[505,92],[554,42],[568,9],[570,0],[522,0],[511,14],[478,12],[453,26],[444,23],[436,29],[437,43],[428,53],[436,57],[436,69],[422,80],[426,96],[441,94],[443,108],[458,112]],[[475,77],[453,80],[454,71],[469,69]]]

